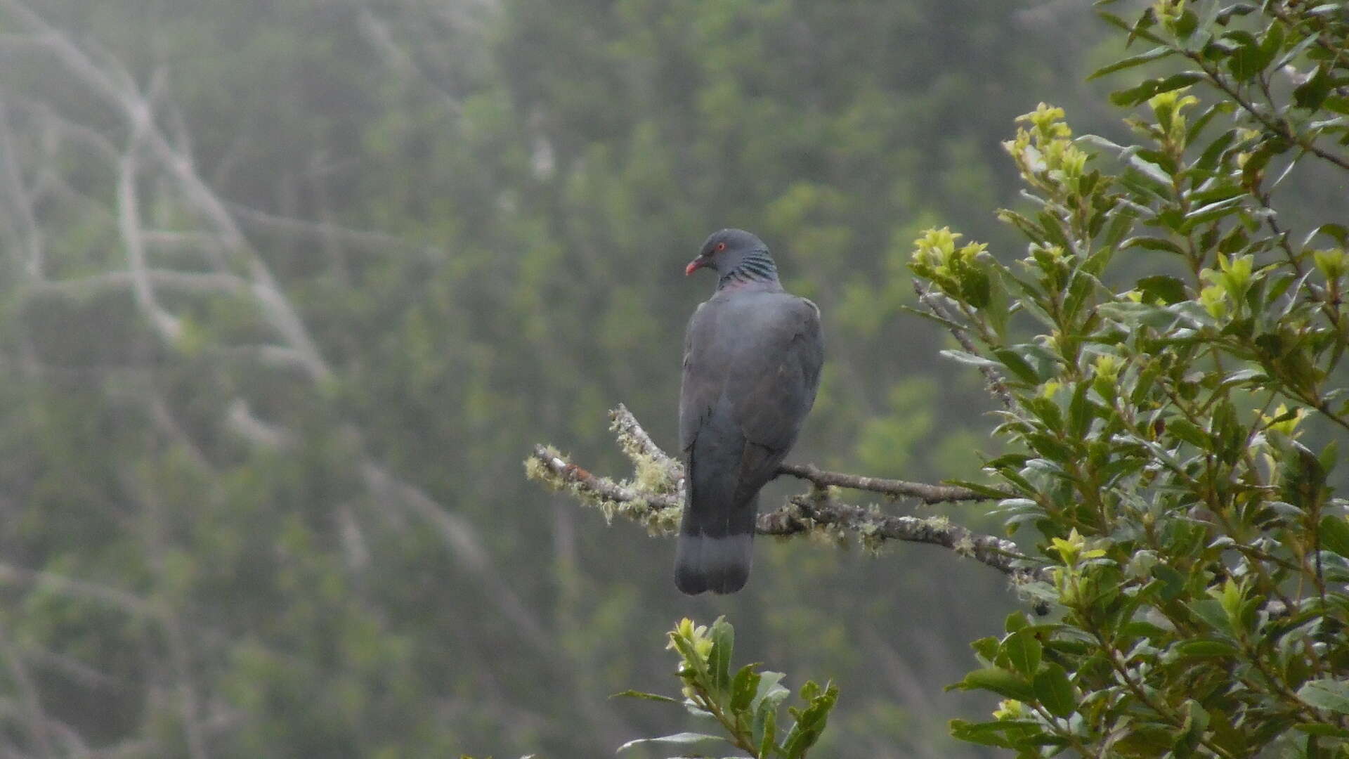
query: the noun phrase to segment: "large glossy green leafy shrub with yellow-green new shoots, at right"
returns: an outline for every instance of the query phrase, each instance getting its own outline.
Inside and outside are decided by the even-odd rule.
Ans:
[[[1141,107],[1135,143],[1041,104],[1006,143],[1027,254],[935,230],[912,258],[975,343],[950,355],[1009,390],[985,466],[1056,612],[974,643],[954,687],[1005,701],[952,732],[1018,756],[1349,751],[1349,230],[1295,231],[1278,196],[1306,163],[1345,196],[1346,7],[1103,16],[1155,47],[1098,74],[1184,63],[1112,96]]]

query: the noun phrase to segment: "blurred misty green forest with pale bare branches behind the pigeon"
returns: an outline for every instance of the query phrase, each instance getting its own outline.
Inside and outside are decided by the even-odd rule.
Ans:
[[[672,540],[521,462],[621,473],[618,402],[673,447],[712,286],[681,270],[738,226],[824,313],[793,461],[971,477],[992,401],[902,263],[934,223],[1012,244],[1037,101],[1121,128],[1102,32],[1063,0],[0,0],[0,754],[606,756],[670,732],[607,698],[670,690],[661,632],[727,613],[743,660],[843,687],[822,755],[981,755],[946,721],[992,700],[942,686],[1002,575],[759,540],[689,600]]]

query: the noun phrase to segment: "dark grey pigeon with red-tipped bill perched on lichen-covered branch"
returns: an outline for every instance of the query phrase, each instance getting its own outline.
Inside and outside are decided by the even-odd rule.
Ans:
[[[782,290],[764,240],[714,232],[684,274],[699,269],[718,282],[684,335],[674,585],[689,596],[735,593],[749,579],[758,492],[796,443],[824,361],[820,309]]]

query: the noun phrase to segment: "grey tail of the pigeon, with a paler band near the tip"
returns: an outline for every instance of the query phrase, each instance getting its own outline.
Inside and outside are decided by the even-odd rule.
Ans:
[[[674,585],[680,592],[697,596],[745,587],[754,559],[757,513],[758,496],[738,508],[692,498],[685,504],[674,548]]]

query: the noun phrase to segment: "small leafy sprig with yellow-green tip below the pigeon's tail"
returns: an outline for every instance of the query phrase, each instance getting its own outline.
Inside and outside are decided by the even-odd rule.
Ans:
[[[661,737],[630,740],[619,752],[645,744],[692,747],[704,743],[730,743],[754,759],[803,759],[824,732],[830,710],[838,701],[838,687],[820,687],[807,681],[800,690],[801,708],[788,706],[792,718],[785,733],[778,731],[778,709],[791,691],[781,685],[782,673],[755,671],[758,664],[745,664],[731,673],[735,628],[718,617],[711,628],[683,619],[669,633],[669,646],[680,656],[679,678],[683,698],[626,690],[616,696],[679,704],[691,714],[715,720],[724,735],[679,732]],[[781,740],[778,736],[781,735]],[[708,756],[680,754],[683,758]]]

